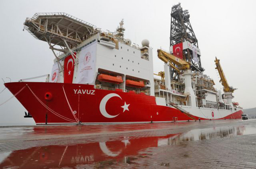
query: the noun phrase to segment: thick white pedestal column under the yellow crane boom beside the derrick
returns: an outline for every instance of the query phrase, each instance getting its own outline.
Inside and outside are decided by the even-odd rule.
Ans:
[[[196,96],[195,96],[195,93],[192,89],[192,84],[191,84],[192,72],[191,72],[191,70],[185,70],[182,75],[184,76],[184,79],[185,79],[184,95],[190,95],[190,97],[191,97],[191,106],[196,107]]]

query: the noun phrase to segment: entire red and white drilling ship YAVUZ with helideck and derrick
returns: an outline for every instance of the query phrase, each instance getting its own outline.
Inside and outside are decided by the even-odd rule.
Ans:
[[[153,49],[116,31],[67,13],[35,13],[24,28],[49,44],[54,55],[46,82],[5,83],[40,124],[147,123],[237,119],[243,114],[220,61],[215,58],[224,93],[205,75],[188,10],[172,7],[170,48],[158,50],[164,71],[153,72]]]

